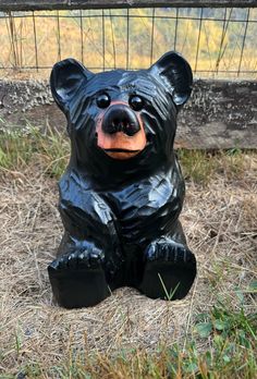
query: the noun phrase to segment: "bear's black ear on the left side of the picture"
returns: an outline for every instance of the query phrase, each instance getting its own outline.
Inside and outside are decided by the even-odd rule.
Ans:
[[[50,87],[52,97],[62,111],[66,110],[69,101],[81,85],[86,83],[93,75],[83,64],[72,58],[53,65]]]

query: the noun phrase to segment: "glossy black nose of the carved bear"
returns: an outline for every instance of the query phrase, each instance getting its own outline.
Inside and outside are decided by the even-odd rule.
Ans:
[[[123,132],[133,136],[139,132],[140,125],[135,112],[125,105],[113,105],[108,108],[102,119],[102,131],[108,134]]]

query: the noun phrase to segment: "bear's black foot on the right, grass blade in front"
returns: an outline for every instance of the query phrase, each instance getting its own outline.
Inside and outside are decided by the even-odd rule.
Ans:
[[[194,254],[169,239],[151,243],[139,290],[151,298],[180,299],[186,296],[196,276]]]

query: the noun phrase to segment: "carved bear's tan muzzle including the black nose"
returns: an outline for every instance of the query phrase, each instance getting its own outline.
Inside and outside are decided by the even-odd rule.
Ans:
[[[146,146],[146,135],[139,113],[126,103],[111,103],[97,122],[97,146],[109,157],[128,159]]]

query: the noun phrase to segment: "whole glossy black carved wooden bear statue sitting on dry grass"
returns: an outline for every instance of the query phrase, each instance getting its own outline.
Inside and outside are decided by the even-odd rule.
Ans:
[[[48,273],[57,302],[93,306],[121,286],[180,299],[196,276],[179,216],[185,186],[173,150],[192,91],[184,58],[94,74],[74,59],[51,72],[71,159],[59,183],[64,235]]]

